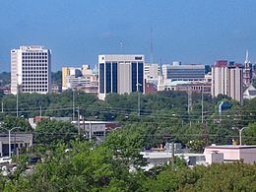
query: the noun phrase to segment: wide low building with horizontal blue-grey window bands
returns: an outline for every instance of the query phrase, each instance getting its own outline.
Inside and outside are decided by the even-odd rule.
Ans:
[[[171,81],[204,81],[205,65],[201,64],[186,64],[181,65],[175,61],[172,65],[162,65],[163,80],[170,79]]]

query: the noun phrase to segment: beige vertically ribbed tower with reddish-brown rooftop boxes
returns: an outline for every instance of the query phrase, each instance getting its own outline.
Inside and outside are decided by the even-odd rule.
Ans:
[[[227,65],[226,60],[217,61],[212,67],[212,96],[226,95],[242,102],[242,67]]]

